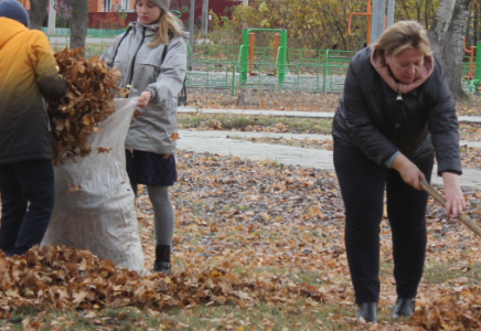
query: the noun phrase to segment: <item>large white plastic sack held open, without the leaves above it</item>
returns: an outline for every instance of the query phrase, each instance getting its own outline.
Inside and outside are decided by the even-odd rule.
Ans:
[[[148,273],[124,146],[137,102],[115,99],[116,113],[100,124],[100,132],[88,137],[90,156],[64,159],[64,164],[54,167],[55,207],[42,246],[89,249],[139,274]]]

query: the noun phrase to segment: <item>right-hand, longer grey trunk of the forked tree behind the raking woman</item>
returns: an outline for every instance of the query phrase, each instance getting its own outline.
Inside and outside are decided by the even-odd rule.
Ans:
[[[461,86],[462,79],[462,54],[464,52],[464,35],[469,19],[469,8],[472,0],[457,0],[448,30],[446,32],[446,44],[443,64],[446,79],[456,99],[467,98]]]

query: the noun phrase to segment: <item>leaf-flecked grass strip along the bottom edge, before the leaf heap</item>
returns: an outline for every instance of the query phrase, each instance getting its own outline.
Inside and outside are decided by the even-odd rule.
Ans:
[[[351,330],[339,320],[353,314],[352,305],[320,305],[313,300],[267,302],[250,307],[209,305],[163,312],[136,308],[98,311],[22,309],[0,321],[1,330]],[[289,305],[279,305],[282,301]]]

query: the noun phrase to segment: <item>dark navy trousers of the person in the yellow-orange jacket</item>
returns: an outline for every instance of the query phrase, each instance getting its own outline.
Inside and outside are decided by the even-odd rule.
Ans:
[[[45,235],[54,205],[52,160],[0,164],[0,249],[23,255]]]

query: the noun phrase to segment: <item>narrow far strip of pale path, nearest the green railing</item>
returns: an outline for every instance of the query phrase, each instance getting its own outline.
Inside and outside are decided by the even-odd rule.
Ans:
[[[205,113],[205,114],[237,114],[237,115],[263,115],[263,116],[286,116],[303,118],[332,118],[334,113],[325,111],[287,111],[287,110],[261,110],[261,109],[215,109],[179,107],[178,113]],[[481,116],[458,116],[459,122],[481,124]]]

